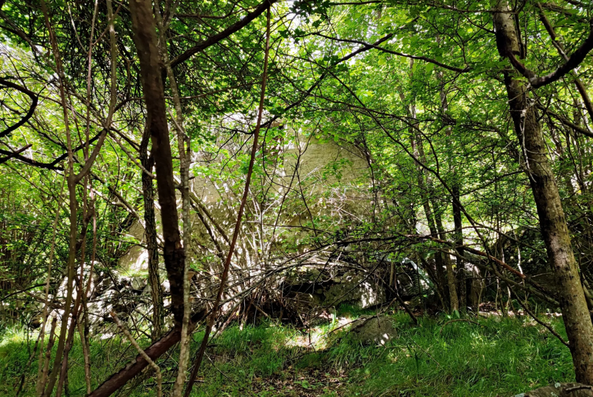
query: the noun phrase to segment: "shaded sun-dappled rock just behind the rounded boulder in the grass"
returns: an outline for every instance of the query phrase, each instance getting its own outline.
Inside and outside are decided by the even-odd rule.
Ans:
[[[364,275],[344,275],[342,282],[330,286],[326,291],[324,305],[337,306],[350,303],[361,309],[380,305],[387,300],[385,288],[376,285]]]

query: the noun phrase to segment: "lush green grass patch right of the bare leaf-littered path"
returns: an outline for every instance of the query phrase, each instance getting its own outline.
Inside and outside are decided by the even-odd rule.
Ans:
[[[402,327],[390,348],[366,350],[369,359],[353,372],[353,389],[361,395],[496,396],[574,379],[568,348],[547,331],[517,319],[480,323],[452,323],[442,334],[432,319]],[[346,356],[347,346],[339,349],[336,358]]]

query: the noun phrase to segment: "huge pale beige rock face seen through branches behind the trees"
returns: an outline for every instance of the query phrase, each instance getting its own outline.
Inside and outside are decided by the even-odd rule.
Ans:
[[[291,132],[294,133],[294,131]],[[355,201],[349,195],[349,184],[351,182],[358,183],[359,179],[364,178],[368,168],[363,154],[355,146],[300,135],[279,149],[278,161],[282,167],[279,167],[275,175],[273,175],[275,180],[273,188],[276,193],[281,195],[283,189],[290,185],[291,180],[291,188],[296,189],[298,180],[300,180],[303,185],[307,185],[304,192],[305,196],[323,196],[323,198],[308,202],[307,206],[302,202],[292,205],[289,211],[283,212],[280,217],[280,224],[298,227],[303,222],[310,220],[310,213],[314,217],[320,214],[331,216],[340,209],[359,213],[368,208],[368,202],[366,204],[361,203],[360,198]],[[294,170],[297,163],[298,177],[295,177]],[[227,235],[231,235],[236,220],[238,197],[233,196],[228,185],[213,182],[211,179],[196,175],[195,179],[192,180],[192,191],[197,198],[202,200],[203,206],[225,230]],[[180,195],[178,195],[177,205],[181,216]],[[157,216],[157,228],[160,230],[161,222],[158,205],[155,214]],[[195,214],[192,218],[193,238],[196,243],[210,246],[211,239],[202,222]],[[134,221],[128,235],[144,244],[144,227],[142,224],[142,220]],[[286,234],[286,231],[283,230],[281,233]],[[294,238],[298,238],[300,234],[301,232],[298,231],[292,233]],[[161,238],[160,235],[159,238]],[[196,247],[196,244],[192,245]],[[238,250],[241,251],[241,247],[238,247]],[[199,250],[194,250],[192,253],[192,257],[199,255]],[[141,246],[133,246],[120,258],[119,265],[123,272],[145,270],[148,268],[148,253]]]

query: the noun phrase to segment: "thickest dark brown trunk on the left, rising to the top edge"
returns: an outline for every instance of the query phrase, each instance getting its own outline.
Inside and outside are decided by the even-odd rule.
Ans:
[[[130,2],[132,31],[138,51],[146,124],[152,141],[152,156],[157,171],[158,203],[161,206],[163,257],[171,288],[171,311],[177,325],[183,321],[183,270],[185,253],[179,233],[173,157],[167,124],[162,59],[157,46],[156,21],[152,2]]]

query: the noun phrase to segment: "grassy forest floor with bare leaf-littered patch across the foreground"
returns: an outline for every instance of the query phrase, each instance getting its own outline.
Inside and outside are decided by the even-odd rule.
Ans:
[[[385,347],[364,347],[345,332],[331,332],[340,318],[343,322],[358,314],[345,308],[333,324],[305,331],[272,322],[228,328],[209,348],[192,396],[512,396],[574,378],[568,348],[526,318],[480,318],[480,325],[453,322],[445,327],[449,317],[421,318],[414,327],[405,313],[395,313],[398,338]],[[565,335],[561,319],[552,324]],[[0,396],[15,395],[24,371],[21,396],[33,395],[37,364],[25,366],[34,337],[27,341],[13,328],[0,332]],[[195,335],[193,350],[201,338]],[[127,341],[94,340],[94,387],[134,355]],[[71,357],[70,396],[83,396],[79,344]],[[174,380],[176,357],[159,364],[164,381]],[[132,396],[156,395],[154,382],[146,380]],[[164,395],[170,387],[165,383]]]

